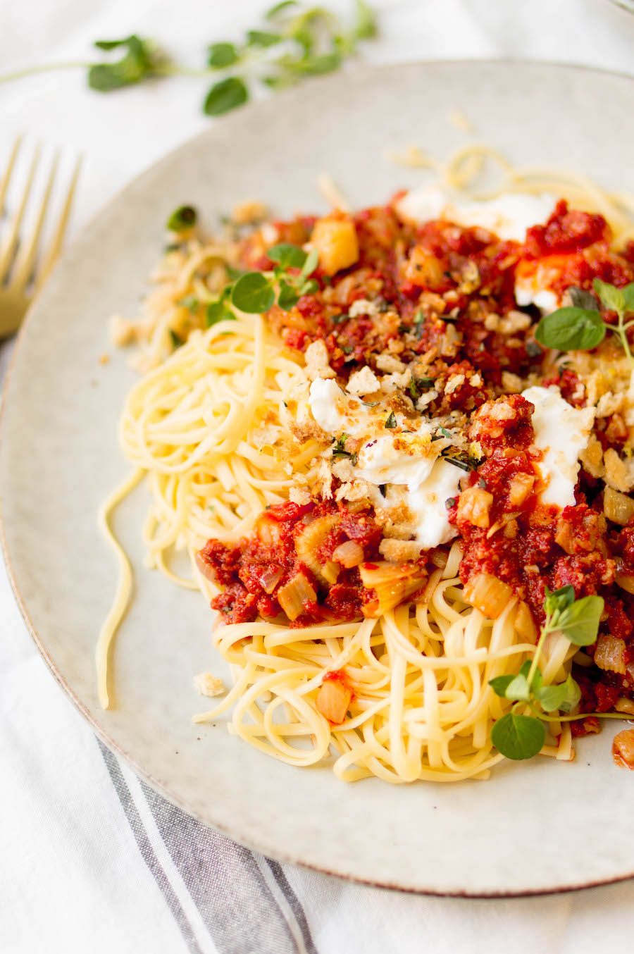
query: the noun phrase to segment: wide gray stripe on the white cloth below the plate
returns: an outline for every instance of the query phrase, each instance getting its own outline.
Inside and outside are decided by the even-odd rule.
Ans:
[[[253,853],[190,818],[148,785],[142,787],[161,838],[220,954],[303,954]],[[310,943],[308,950],[314,952]]]

